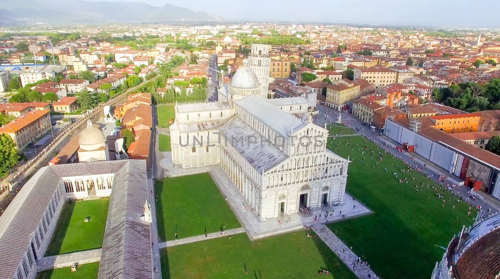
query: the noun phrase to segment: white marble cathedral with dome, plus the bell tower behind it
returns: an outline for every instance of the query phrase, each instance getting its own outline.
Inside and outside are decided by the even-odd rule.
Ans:
[[[182,168],[219,164],[260,221],[343,203],[348,160],[326,148],[303,97],[268,99],[269,45],[251,52],[218,101],[175,105],[171,155]],[[308,118],[308,120],[307,120]]]

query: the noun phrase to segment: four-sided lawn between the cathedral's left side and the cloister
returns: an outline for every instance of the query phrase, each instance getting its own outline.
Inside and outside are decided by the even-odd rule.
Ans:
[[[161,241],[241,227],[207,173],[157,180],[154,191]]]

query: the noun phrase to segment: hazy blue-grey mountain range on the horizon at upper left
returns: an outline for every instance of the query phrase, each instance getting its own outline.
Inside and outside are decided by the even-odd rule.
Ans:
[[[2,18],[4,17],[4,18]],[[165,4],[160,7],[139,2],[89,2],[84,0],[6,1],[0,6],[0,24],[20,21],[46,23],[105,22],[212,22],[217,15]]]

